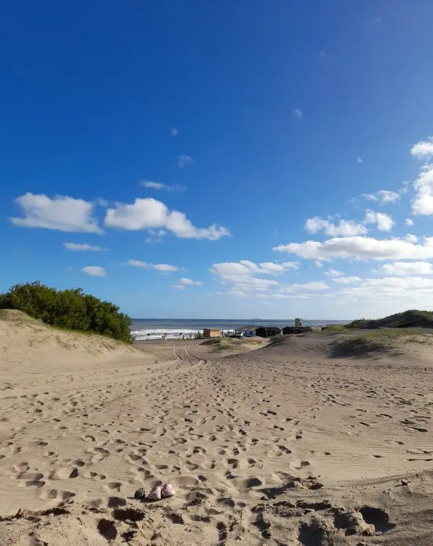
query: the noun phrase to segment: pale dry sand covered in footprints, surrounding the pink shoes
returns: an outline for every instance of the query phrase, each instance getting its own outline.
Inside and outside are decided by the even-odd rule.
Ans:
[[[222,356],[0,321],[0,544],[432,545],[432,347],[332,343]]]

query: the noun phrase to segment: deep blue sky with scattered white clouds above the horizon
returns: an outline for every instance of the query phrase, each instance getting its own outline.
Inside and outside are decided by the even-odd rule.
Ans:
[[[429,0],[6,1],[0,289],[132,317],[433,307]]]

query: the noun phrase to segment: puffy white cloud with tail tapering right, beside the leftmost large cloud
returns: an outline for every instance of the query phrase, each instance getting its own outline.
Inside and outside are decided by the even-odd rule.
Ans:
[[[230,235],[226,227],[217,227],[215,224],[194,227],[183,212],[170,211],[164,203],[151,197],[135,199],[132,205],[117,203],[115,208],[107,210],[104,225],[132,231],[165,228],[185,239],[218,240]]]

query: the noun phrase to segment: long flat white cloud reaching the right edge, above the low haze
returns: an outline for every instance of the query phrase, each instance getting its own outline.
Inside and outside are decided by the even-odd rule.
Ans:
[[[336,237],[323,243],[314,240],[288,243],[273,250],[296,254],[305,260],[428,260],[433,258],[433,238],[425,238],[422,245],[415,245],[401,238]]]

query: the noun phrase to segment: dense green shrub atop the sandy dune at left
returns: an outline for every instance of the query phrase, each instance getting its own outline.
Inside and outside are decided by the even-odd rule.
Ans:
[[[0,309],[18,309],[51,326],[131,341],[130,317],[119,312],[114,303],[84,294],[82,288],[56,290],[40,282],[16,284],[0,295]]]

